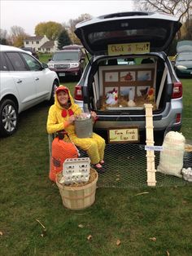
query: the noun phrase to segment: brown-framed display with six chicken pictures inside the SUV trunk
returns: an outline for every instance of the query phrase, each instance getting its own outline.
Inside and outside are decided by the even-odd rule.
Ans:
[[[99,95],[102,107],[144,108],[155,106],[155,64],[99,67]],[[97,89],[98,90],[98,89]]]

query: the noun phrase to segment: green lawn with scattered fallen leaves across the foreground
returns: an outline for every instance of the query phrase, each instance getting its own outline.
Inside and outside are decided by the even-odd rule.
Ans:
[[[192,85],[182,82],[185,135]],[[65,84],[73,90],[75,83]],[[44,103],[22,113],[15,135],[0,139],[0,255],[191,255],[191,186],[98,188],[88,209],[63,207],[48,179],[48,109]]]

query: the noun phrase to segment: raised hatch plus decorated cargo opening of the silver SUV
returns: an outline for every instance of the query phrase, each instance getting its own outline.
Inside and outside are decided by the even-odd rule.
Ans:
[[[160,113],[171,99],[172,85],[167,82],[166,55],[157,53],[168,51],[180,27],[177,18],[152,12],[103,15],[76,24],[86,50],[103,55],[89,73],[91,107],[118,115],[143,113],[144,104],[151,103]]]

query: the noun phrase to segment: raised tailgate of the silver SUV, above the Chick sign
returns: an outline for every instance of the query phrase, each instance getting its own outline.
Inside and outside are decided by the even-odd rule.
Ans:
[[[111,44],[138,42],[148,42],[150,51],[167,51],[180,27],[171,15],[138,11],[83,21],[76,24],[75,33],[91,55],[108,55]]]

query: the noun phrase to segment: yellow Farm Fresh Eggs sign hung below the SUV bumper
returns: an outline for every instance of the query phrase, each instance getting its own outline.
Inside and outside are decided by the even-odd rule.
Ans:
[[[109,143],[129,143],[138,142],[138,127],[111,128],[108,130]]]

